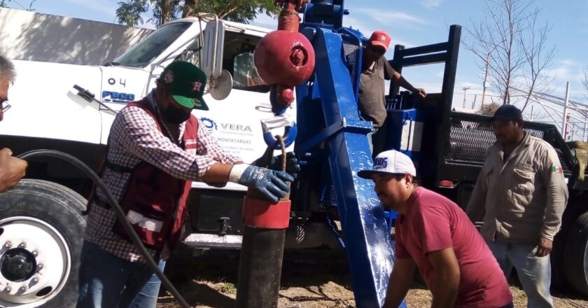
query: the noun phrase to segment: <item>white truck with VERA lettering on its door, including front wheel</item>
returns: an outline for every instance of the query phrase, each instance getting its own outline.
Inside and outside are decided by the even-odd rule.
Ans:
[[[10,87],[11,109],[0,123],[0,145],[15,154],[63,151],[97,169],[116,111],[144,97],[167,64],[183,59],[212,79],[205,97],[210,110],[195,115],[226,151],[252,162],[266,148],[260,120],[274,117],[269,86],[253,66],[255,45],[269,31],[202,15],[169,22],[102,66],[15,60],[18,77]],[[295,116],[295,105],[286,114]],[[0,307],[71,307],[85,225],[80,212],[92,183],[51,158],[29,161],[27,178],[0,195]],[[245,188],[193,188],[184,242],[239,248]],[[287,242],[301,244],[300,238]]]

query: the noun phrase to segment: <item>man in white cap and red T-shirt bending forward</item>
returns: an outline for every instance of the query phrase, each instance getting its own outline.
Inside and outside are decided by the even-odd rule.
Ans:
[[[400,305],[415,265],[433,293],[431,307],[512,307],[505,276],[484,239],[457,204],[415,183],[407,155],[382,152],[374,169],[358,176],[372,179],[384,207],[399,214],[384,307]]]

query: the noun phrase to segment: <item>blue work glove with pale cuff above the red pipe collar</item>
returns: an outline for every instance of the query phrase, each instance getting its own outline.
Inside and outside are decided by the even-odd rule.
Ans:
[[[286,181],[294,181],[294,177],[282,171],[248,166],[239,177],[237,183],[253,188],[271,202],[278,202],[278,200],[286,196],[286,193],[290,193],[290,186]]]

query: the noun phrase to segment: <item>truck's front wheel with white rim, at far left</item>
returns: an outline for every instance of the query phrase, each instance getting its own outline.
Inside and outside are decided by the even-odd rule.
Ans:
[[[34,179],[0,194],[0,307],[75,307],[85,203]]]

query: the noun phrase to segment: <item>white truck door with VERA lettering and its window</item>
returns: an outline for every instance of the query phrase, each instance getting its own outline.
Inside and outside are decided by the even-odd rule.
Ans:
[[[261,37],[261,33],[255,35],[246,31],[230,31],[230,28],[225,31],[222,62],[223,69],[232,76],[232,91],[222,100],[205,94],[204,100],[209,111],[194,111],[218,144],[244,162],[260,158],[267,148],[260,120],[273,117],[269,104],[269,86],[258,76],[253,65],[253,51]],[[200,66],[199,45],[200,40],[196,39],[179,59]],[[295,115],[295,105],[287,113]]]

